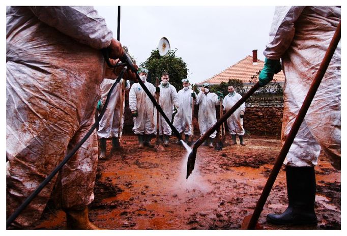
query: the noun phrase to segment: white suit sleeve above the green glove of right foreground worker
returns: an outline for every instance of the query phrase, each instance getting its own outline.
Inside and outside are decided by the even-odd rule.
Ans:
[[[273,60],[278,60],[291,45],[295,34],[295,22],[304,10],[299,7],[276,7],[274,18],[269,33],[270,39],[264,55]]]

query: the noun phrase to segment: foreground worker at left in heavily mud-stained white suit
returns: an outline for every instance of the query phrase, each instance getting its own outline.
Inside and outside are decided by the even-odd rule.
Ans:
[[[112,58],[124,50],[92,7],[7,7],[6,13],[8,218],[94,124],[106,75],[99,49],[108,48]],[[66,212],[67,228],[97,228],[88,218],[97,149],[93,132],[10,227],[35,228],[52,196]]]

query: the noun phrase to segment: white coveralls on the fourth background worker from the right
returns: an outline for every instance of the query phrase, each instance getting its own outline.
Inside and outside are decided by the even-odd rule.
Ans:
[[[167,118],[171,121],[173,106],[179,107],[176,88],[170,83],[167,83],[166,86],[160,83],[159,87],[159,105],[163,109]],[[154,114],[157,115],[157,108],[154,108]],[[154,133],[157,135],[157,119],[154,120],[154,128]],[[164,120],[164,117],[159,113],[159,135],[171,135],[171,131],[170,126]]]

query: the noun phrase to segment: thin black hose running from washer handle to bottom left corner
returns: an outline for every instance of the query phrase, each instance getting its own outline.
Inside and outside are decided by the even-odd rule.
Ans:
[[[54,177],[54,175],[60,171],[60,169],[65,165],[65,163],[67,163],[70,158],[75,155],[75,153],[77,152],[77,150],[83,145],[83,143],[85,142],[85,140],[87,140],[89,138],[89,136],[94,132],[94,129],[96,127],[99,126],[99,122],[101,120],[101,117],[104,115],[105,111],[106,111],[106,107],[107,104],[110,100],[110,96],[112,94],[113,88],[117,85],[117,83],[119,83],[119,81],[123,78],[124,73],[126,72],[127,67],[124,67],[121,71],[121,73],[119,74],[117,80],[114,82],[114,84],[112,85],[112,87],[110,88],[110,91],[108,92],[105,104],[100,112],[100,115],[98,116],[98,119],[95,121],[94,125],[92,126],[92,128],[88,131],[88,133],[76,144],[76,146],[71,150],[71,152],[65,156],[65,158],[63,159],[63,161],[57,165],[55,167],[55,169],[46,177],[46,179],[43,180],[43,182],[39,185],[39,187],[37,187],[37,189],[35,189],[35,191],[30,194],[25,200],[24,202],[17,208],[17,210],[6,220],[6,228],[10,226],[10,224],[19,216],[19,214],[26,208],[26,206],[28,204],[30,204],[30,202],[41,192],[41,190],[49,183],[49,181],[52,180],[52,178]]]

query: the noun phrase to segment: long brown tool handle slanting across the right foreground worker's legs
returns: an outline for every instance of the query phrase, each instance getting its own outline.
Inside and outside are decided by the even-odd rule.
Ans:
[[[242,223],[242,228],[244,229],[254,229],[255,226],[256,226],[256,223],[259,219],[259,216],[260,214],[262,213],[263,211],[263,208],[264,208],[264,205],[265,205],[265,202],[270,194],[270,191],[272,189],[272,186],[273,184],[275,183],[275,180],[277,178],[277,175],[278,175],[278,172],[280,171],[281,169],[281,166],[283,164],[283,161],[294,141],[294,138],[295,136],[297,135],[298,133],[298,130],[301,126],[301,123],[303,122],[304,118],[305,118],[305,115],[306,115],[306,112],[308,110],[308,108],[310,107],[311,105],[311,102],[314,98],[314,95],[315,93],[317,92],[318,90],[318,87],[324,77],[324,74],[329,66],[329,63],[331,61],[331,58],[333,57],[333,54],[335,52],[335,49],[340,41],[340,38],[341,38],[341,21],[340,23],[338,24],[337,28],[336,28],[336,31],[335,31],[335,34],[333,36],[333,39],[331,40],[330,42],[330,45],[325,53],[325,56],[323,58],[323,61],[322,61],[322,64],[320,66],[320,68],[318,69],[314,79],[313,79],[313,82],[307,92],[307,95],[306,95],[306,98],[299,110],[299,113],[298,113],[298,116],[296,117],[295,121],[294,121],[294,124],[293,124],[293,127],[291,129],[291,131],[289,132],[288,136],[287,136],[287,139],[285,140],[283,146],[282,146],[282,149],[277,157],[277,160],[276,160],[276,163],[269,175],[269,178],[268,178],[268,181],[266,182],[266,185],[263,189],[263,192],[262,192],[262,195],[260,196],[256,206],[255,206],[255,209],[254,209],[254,212],[253,214],[250,216],[246,216],[243,220],[243,223]]]

